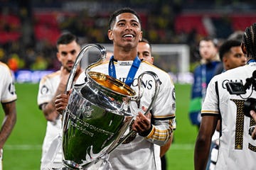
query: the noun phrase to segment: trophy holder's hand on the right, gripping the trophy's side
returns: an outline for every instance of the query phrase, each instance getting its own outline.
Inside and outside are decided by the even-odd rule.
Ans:
[[[142,107],[143,111],[146,111],[146,108]],[[139,133],[139,135],[146,136],[149,134],[151,130],[151,113],[143,113],[139,112],[134,120],[132,125],[132,130]]]

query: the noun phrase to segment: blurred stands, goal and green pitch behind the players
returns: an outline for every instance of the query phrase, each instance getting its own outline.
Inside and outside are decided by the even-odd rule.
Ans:
[[[46,120],[36,104],[38,81],[60,67],[55,54],[60,33],[70,31],[81,44],[111,48],[108,18],[124,6],[139,13],[144,38],[153,44],[154,64],[176,83],[177,129],[166,153],[167,169],[193,169],[198,129],[188,119],[188,104],[192,72],[201,59],[198,41],[212,36],[220,44],[231,33],[244,31],[256,22],[256,1],[0,0],[0,61],[14,72],[18,95],[18,121],[4,146],[4,169],[40,167]],[[4,113],[0,115],[2,119]]]

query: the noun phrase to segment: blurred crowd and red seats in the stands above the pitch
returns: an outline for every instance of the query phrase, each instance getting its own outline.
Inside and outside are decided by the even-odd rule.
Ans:
[[[60,66],[55,57],[55,41],[60,33],[75,33],[82,44],[109,44],[108,18],[123,6],[139,13],[144,38],[152,44],[188,45],[188,72],[200,60],[200,38],[210,35],[221,42],[234,31],[243,31],[256,22],[256,1],[249,0],[0,0],[0,60],[15,73],[54,71]],[[162,64],[157,66],[164,68]],[[179,72],[166,70],[169,71]],[[23,77],[28,73],[23,72]],[[48,72],[34,74],[41,77]]]

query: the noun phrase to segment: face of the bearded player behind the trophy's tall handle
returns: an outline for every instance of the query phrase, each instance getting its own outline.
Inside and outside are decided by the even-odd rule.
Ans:
[[[78,43],[75,42],[75,40],[67,45],[58,45],[58,60],[61,62],[64,69],[68,70],[68,72],[70,72],[73,68],[75,59],[76,57],[78,57],[79,52],[80,45],[78,45]]]

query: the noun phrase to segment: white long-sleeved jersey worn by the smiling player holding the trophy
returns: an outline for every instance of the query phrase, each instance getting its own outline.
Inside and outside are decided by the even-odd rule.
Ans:
[[[114,62],[114,67],[117,74],[117,79],[125,81],[129,69],[133,61],[117,61]],[[97,67],[92,67],[91,71],[101,72],[108,75],[109,62],[100,64]],[[159,156],[159,147],[156,145],[164,145],[166,132],[171,128],[175,128],[175,91],[174,83],[169,74],[163,70],[154,67],[153,65],[142,62],[135,74],[134,81],[131,85],[134,91],[138,92],[138,77],[143,72],[151,71],[157,74],[161,85],[159,94],[156,96],[156,101],[152,106],[151,113],[153,117],[153,130],[151,133],[142,137],[136,137],[126,144],[119,145],[110,153],[109,161],[113,169],[161,169],[161,160]],[[78,84],[82,83],[84,77],[79,77]],[[151,98],[154,96],[154,79],[148,74],[145,74],[143,79],[144,93],[140,99],[139,106],[132,101],[132,113],[135,115],[142,111],[142,106],[146,108],[151,103]],[[142,111],[143,113],[144,111]]]

